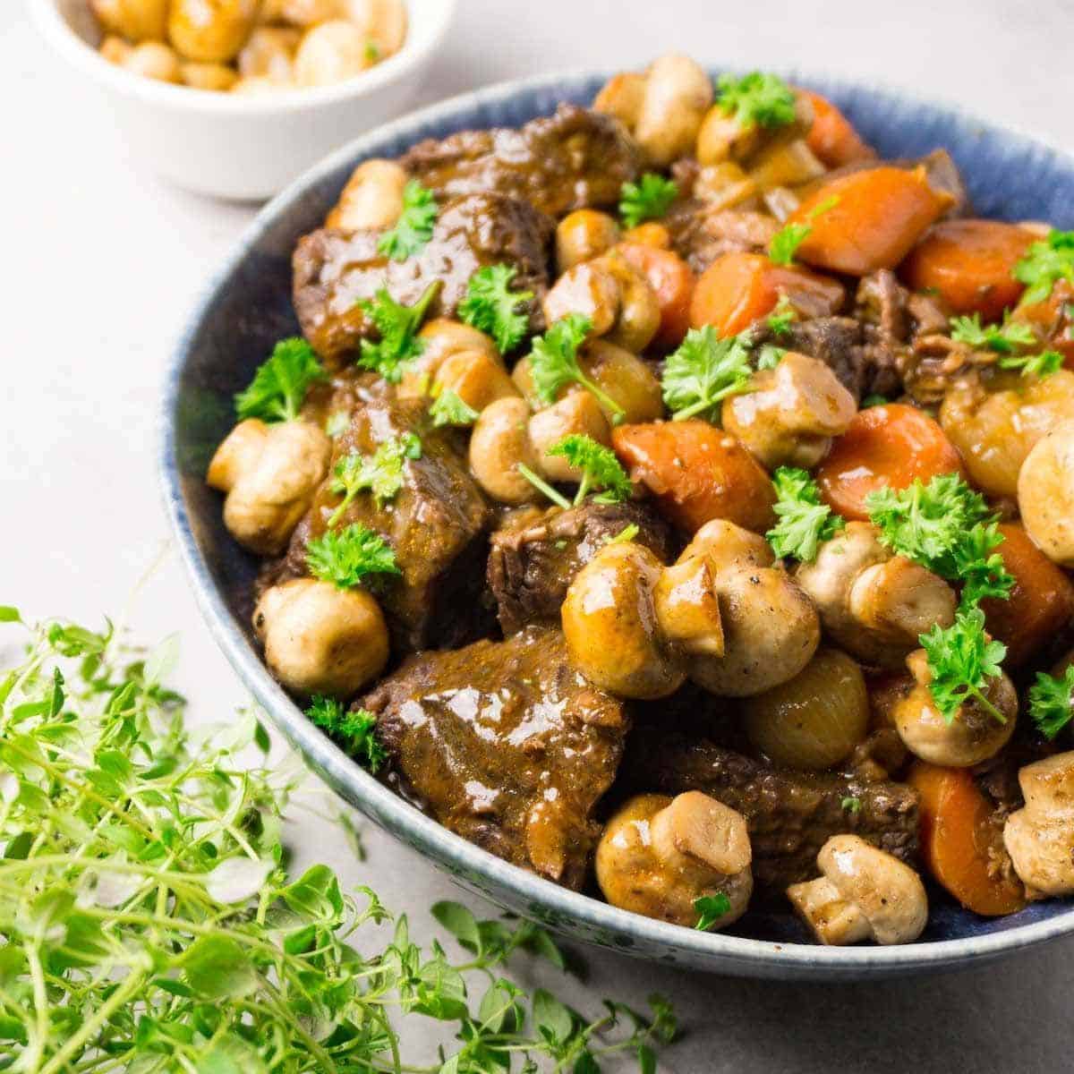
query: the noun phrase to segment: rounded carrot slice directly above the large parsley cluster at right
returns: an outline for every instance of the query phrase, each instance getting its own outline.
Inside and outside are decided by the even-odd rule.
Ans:
[[[821,495],[844,519],[868,519],[866,497],[915,478],[961,474],[955,446],[927,413],[902,403],[859,410],[816,471]]]

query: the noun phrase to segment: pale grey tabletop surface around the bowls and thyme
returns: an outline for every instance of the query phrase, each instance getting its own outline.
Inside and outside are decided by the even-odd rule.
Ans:
[[[462,0],[423,100],[679,48],[901,85],[1074,147],[1072,29],[1072,0]],[[147,638],[180,630],[178,685],[201,717],[223,719],[244,691],[174,557],[133,591],[168,539],[155,416],[170,342],[252,211],[170,189],[131,159],[15,0],[0,0],[0,603],[91,620],[130,606]],[[459,897],[368,826],[365,865],[326,822],[292,834],[305,856],[422,925],[431,902]],[[1074,941],[879,986],[742,982],[582,954],[586,985],[566,989],[580,1006],[603,995],[640,1003],[653,989],[674,1000],[688,1036],[666,1069],[679,1074],[1074,1066]],[[521,967],[524,978],[532,971]]]

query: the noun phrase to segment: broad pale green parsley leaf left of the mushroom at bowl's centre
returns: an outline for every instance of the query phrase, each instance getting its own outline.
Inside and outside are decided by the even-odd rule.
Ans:
[[[721,339],[710,324],[691,329],[664,363],[664,402],[674,421],[697,415],[715,421],[720,403],[746,391],[752,373],[750,350],[737,336]]]

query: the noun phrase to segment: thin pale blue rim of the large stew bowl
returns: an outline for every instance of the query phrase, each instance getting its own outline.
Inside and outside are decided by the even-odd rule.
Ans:
[[[719,70],[741,69],[727,64],[720,66]],[[565,96],[572,90],[581,91],[594,81],[608,77],[610,73],[612,72],[593,70],[558,72],[498,83],[408,113],[351,140],[270,201],[246,228],[230,256],[204,286],[185,326],[177,336],[165,372],[164,392],[158,415],[160,452],[158,462],[165,510],[175,532],[184,565],[193,583],[195,600],[214,640],[240,679],[251,690],[257,701],[291,745],[319,771],[338,774],[338,782],[346,786],[347,793],[343,794],[338,788],[334,788],[336,793],[394,834],[405,832],[410,845],[419,850],[423,856],[432,858],[438,866],[446,867],[452,874],[480,875],[488,880],[493,889],[507,889],[517,901],[536,903],[556,917],[577,921],[594,932],[625,934],[636,938],[640,945],[651,949],[663,948],[681,953],[684,959],[695,967],[708,966],[712,971],[721,973],[786,975],[815,979],[828,975],[826,971],[830,972],[832,979],[845,976],[866,977],[873,973],[887,976],[914,970],[967,968],[1074,932],[1074,906],[1071,906],[1068,912],[1046,920],[956,940],[925,941],[887,947],[826,947],[753,940],[720,932],[699,932],[633,914],[590,896],[568,890],[510,865],[444,828],[396,796],[339,750],[309,723],[301,709],[272,678],[247,642],[214,582],[205,558],[198,548],[183,496],[176,456],[175,416],[190,343],[220,286],[240,266],[272,221],[291,211],[309,189],[342,165],[375,153],[375,147],[381,142],[392,137],[406,137],[411,132],[430,125],[447,125],[460,113],[470,112],[483,105],[493,107],[504,105],[516,97],[549,90],[562,90]],[[797,68],[781,73],[788,81],[816,87],[826,93],[837,96],[841,91],[863,93],[891,104],[910,104],[931,110],[934,114],[943,114],[952,121],[972,124],[984,133],[1000,136],[1013,148],[1037,151],[1044,148],[1060,158],[1066,166],[1074,168],[1074,157],[1046,136],[1037,136],[1035,133],[1030,136],[997,126],[947,101],[929,100],[901,88],[888,86],[877,88],[875,85],[866,85],[857,79],[832,77]],[[640,948],[619,949],[625,954],[651,957]]]

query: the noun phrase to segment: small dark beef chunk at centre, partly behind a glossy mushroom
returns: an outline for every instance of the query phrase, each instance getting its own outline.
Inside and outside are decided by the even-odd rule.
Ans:
[[[496,598],[504,634],[531,623],[558,624],[560,609],[575,575],[628,525],[634,540],[665,562],[671,555],[671,531],[643,504],[589,500],[563,511],[552,508],[522,516],[492,535],[489,585]]]

